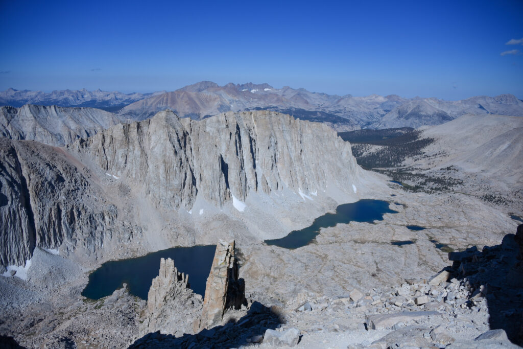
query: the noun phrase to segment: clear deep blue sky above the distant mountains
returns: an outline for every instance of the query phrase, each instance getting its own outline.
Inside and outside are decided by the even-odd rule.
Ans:
[[[521,0],[0,0],[0,90],[174,91],[210,80],[523,98],[522,38]]]

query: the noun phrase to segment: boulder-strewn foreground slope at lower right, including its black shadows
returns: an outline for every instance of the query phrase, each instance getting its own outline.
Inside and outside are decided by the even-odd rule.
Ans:
[[[267,307],[248,295],[240,319],[197,334],[150,333],[131,347],[517,348],[521,251],[523,224],[501,245],[449,253],[452,266],[430,278],[338,298],[301,294]]]

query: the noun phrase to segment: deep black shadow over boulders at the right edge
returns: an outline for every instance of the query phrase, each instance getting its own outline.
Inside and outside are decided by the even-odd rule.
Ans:
[[[471,286],[474,297],[486,297],[491,329],[503,329],[508,339],[523,345],[523,224],[517,234],[507,234],[501,245],[470,247],[449,253],[452,276]],[[481,294],[480,294],[481,292]]]

